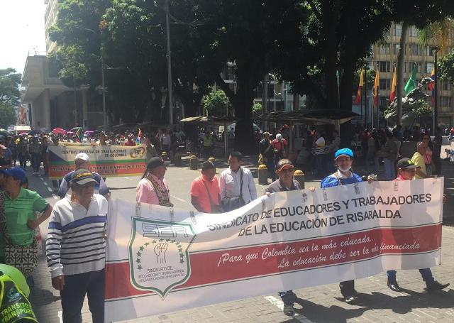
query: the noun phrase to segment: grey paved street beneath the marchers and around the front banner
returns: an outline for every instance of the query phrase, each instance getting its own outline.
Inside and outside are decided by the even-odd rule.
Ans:
[[[187,160],[184,161],[187,163]],[[225,160],[216,161],[218,173],[226,168]],[[187,164],[184,164],[184,166]],[[248,166],[248,165],[246,165]],[[445,162],[445,191],[448,203],[445,205],[445,222],[450,223],[450,212],[454,206],[454,164]],[[360,173],[360,165],[356,168]],[[57,199],[52,196],[50,180],[27,174],[30,187],[38,191],[48,202],[54,204]],[[170,185],[171,199],[175,207],[188,208],[190,182],[199,175],[199,171],[188,167],[167,168],[166,178]],[[108,178],[112,198],[135,199],[135,186],[140,177]],[[311,180],[311,177],[307,177]],[[257,182],[257,178],[255,178]],[[306,182],[306,187],[318,185]],[[264,186],[257,185],[258,192]],[[47,223],[42,225],[43,239],[46,236]],[[443,227],[443,260],[440,267],[433,268],[434,276],[442,283],[454,283],[454,227]],[[360,292],[360,302],[348,305],[341,299],[337,284],[322,285],[315,288],[295,290],[299,296],[296,306],[297,315],[287,317],[282,314],[282,302],[276,295],[262,295],[247,300],[226,302],[208,307],[201,307],[182,312],[162,314],[156,317],[135,319],[128,322],[454,322],[454,290],[428,294],[423,291],[423,281],[418,270],[407,270],[398,273],[398,281],[404,292],[392,292],[387,288],[384,273],[370,278],[357,280],[356,289]],[[32,290],[31,302],[38,315],[39,322],[60,322],[60,296],[53,290],[50,275],[44,258],[40,259],[35,271],[35,288]],[[150,305],[153,306],[153,305]],[[87,302],[83,309],[83,322],[91,322]]]

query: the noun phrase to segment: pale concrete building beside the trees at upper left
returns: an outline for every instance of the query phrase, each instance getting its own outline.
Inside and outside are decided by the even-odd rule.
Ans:
[[[46,55],[29,55],[22,75],[22,104],[27,106],[28,121],[33,128],[96,128],[103,124],[101,97],[90,93],[89,87],[76,89],[65,86],[47,55],[57,48],[50,40],[48,28],[55,23],[57,0],[44,0]]]

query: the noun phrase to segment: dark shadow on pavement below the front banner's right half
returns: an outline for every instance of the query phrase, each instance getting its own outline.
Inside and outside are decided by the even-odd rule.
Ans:
[[[451,309],[454,304],[454,290],[438,292],[414,292],[404,290],[407,295],[391,296],[382,292],[372,292],[371,294],[360,293],[359,299],[352,303],[352,308],[347,309],[341,306],[332,305],[325,307],[309,300],[298,299],[297,304],[300,308],[295,308],[295,312],[304,315],[314,322],[347,322],[348,319],[361,317],[368,310],[392,310],[397,314],[406,314],[413,309],[437,308]],[[409,295],[408,295],[409,294]],[[337,300],[343,302],[341,297]],[[343,303],[345,306],[345,303]],[[346,305],[350,306],[350,305]],[[359,308],[358,308],[359,306]],[[282,322],[300,322],[298,319],[288,319]]]

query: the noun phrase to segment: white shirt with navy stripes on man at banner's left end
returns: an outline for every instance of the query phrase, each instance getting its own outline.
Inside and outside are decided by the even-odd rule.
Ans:
[[[52,278],[89,273],[104,268],[109,203],[94,194],[89,208],[65,197],[50,215],[46,256]]]

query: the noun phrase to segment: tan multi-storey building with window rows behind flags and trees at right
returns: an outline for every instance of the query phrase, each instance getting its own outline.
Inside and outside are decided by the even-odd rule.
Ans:
[[[435,43],[421,45],[419,34],[416,27],[408,28],[408,37],[405,44],[404,58],[404,84],[409,79],[411,69],[416,64],[417,79],[430,77],[434,64],[434,53],[431,46]],[[452,33],[450,33],[452,35]],[[372,59],[370,60],[370,69],[380,70],[380,106],[389,104],[389,96],[391,94],[392,73],[394,64],[397,65],[397,55],[400,48],[400,39],[402,36],[402,24],[392,23],[387,38],[382,42],[372,46]],[[438,53],[438,58],[441,53]],[[438,79],[438,123],[439,124],[454,124],[454,91],[449,82]],[[372,89],[368,91],[368,95]],[[426,94],[431,94],[429,91]],[[428,99],[431,104],[431,99]],[[382,114],[380,114],[382,118]]]

